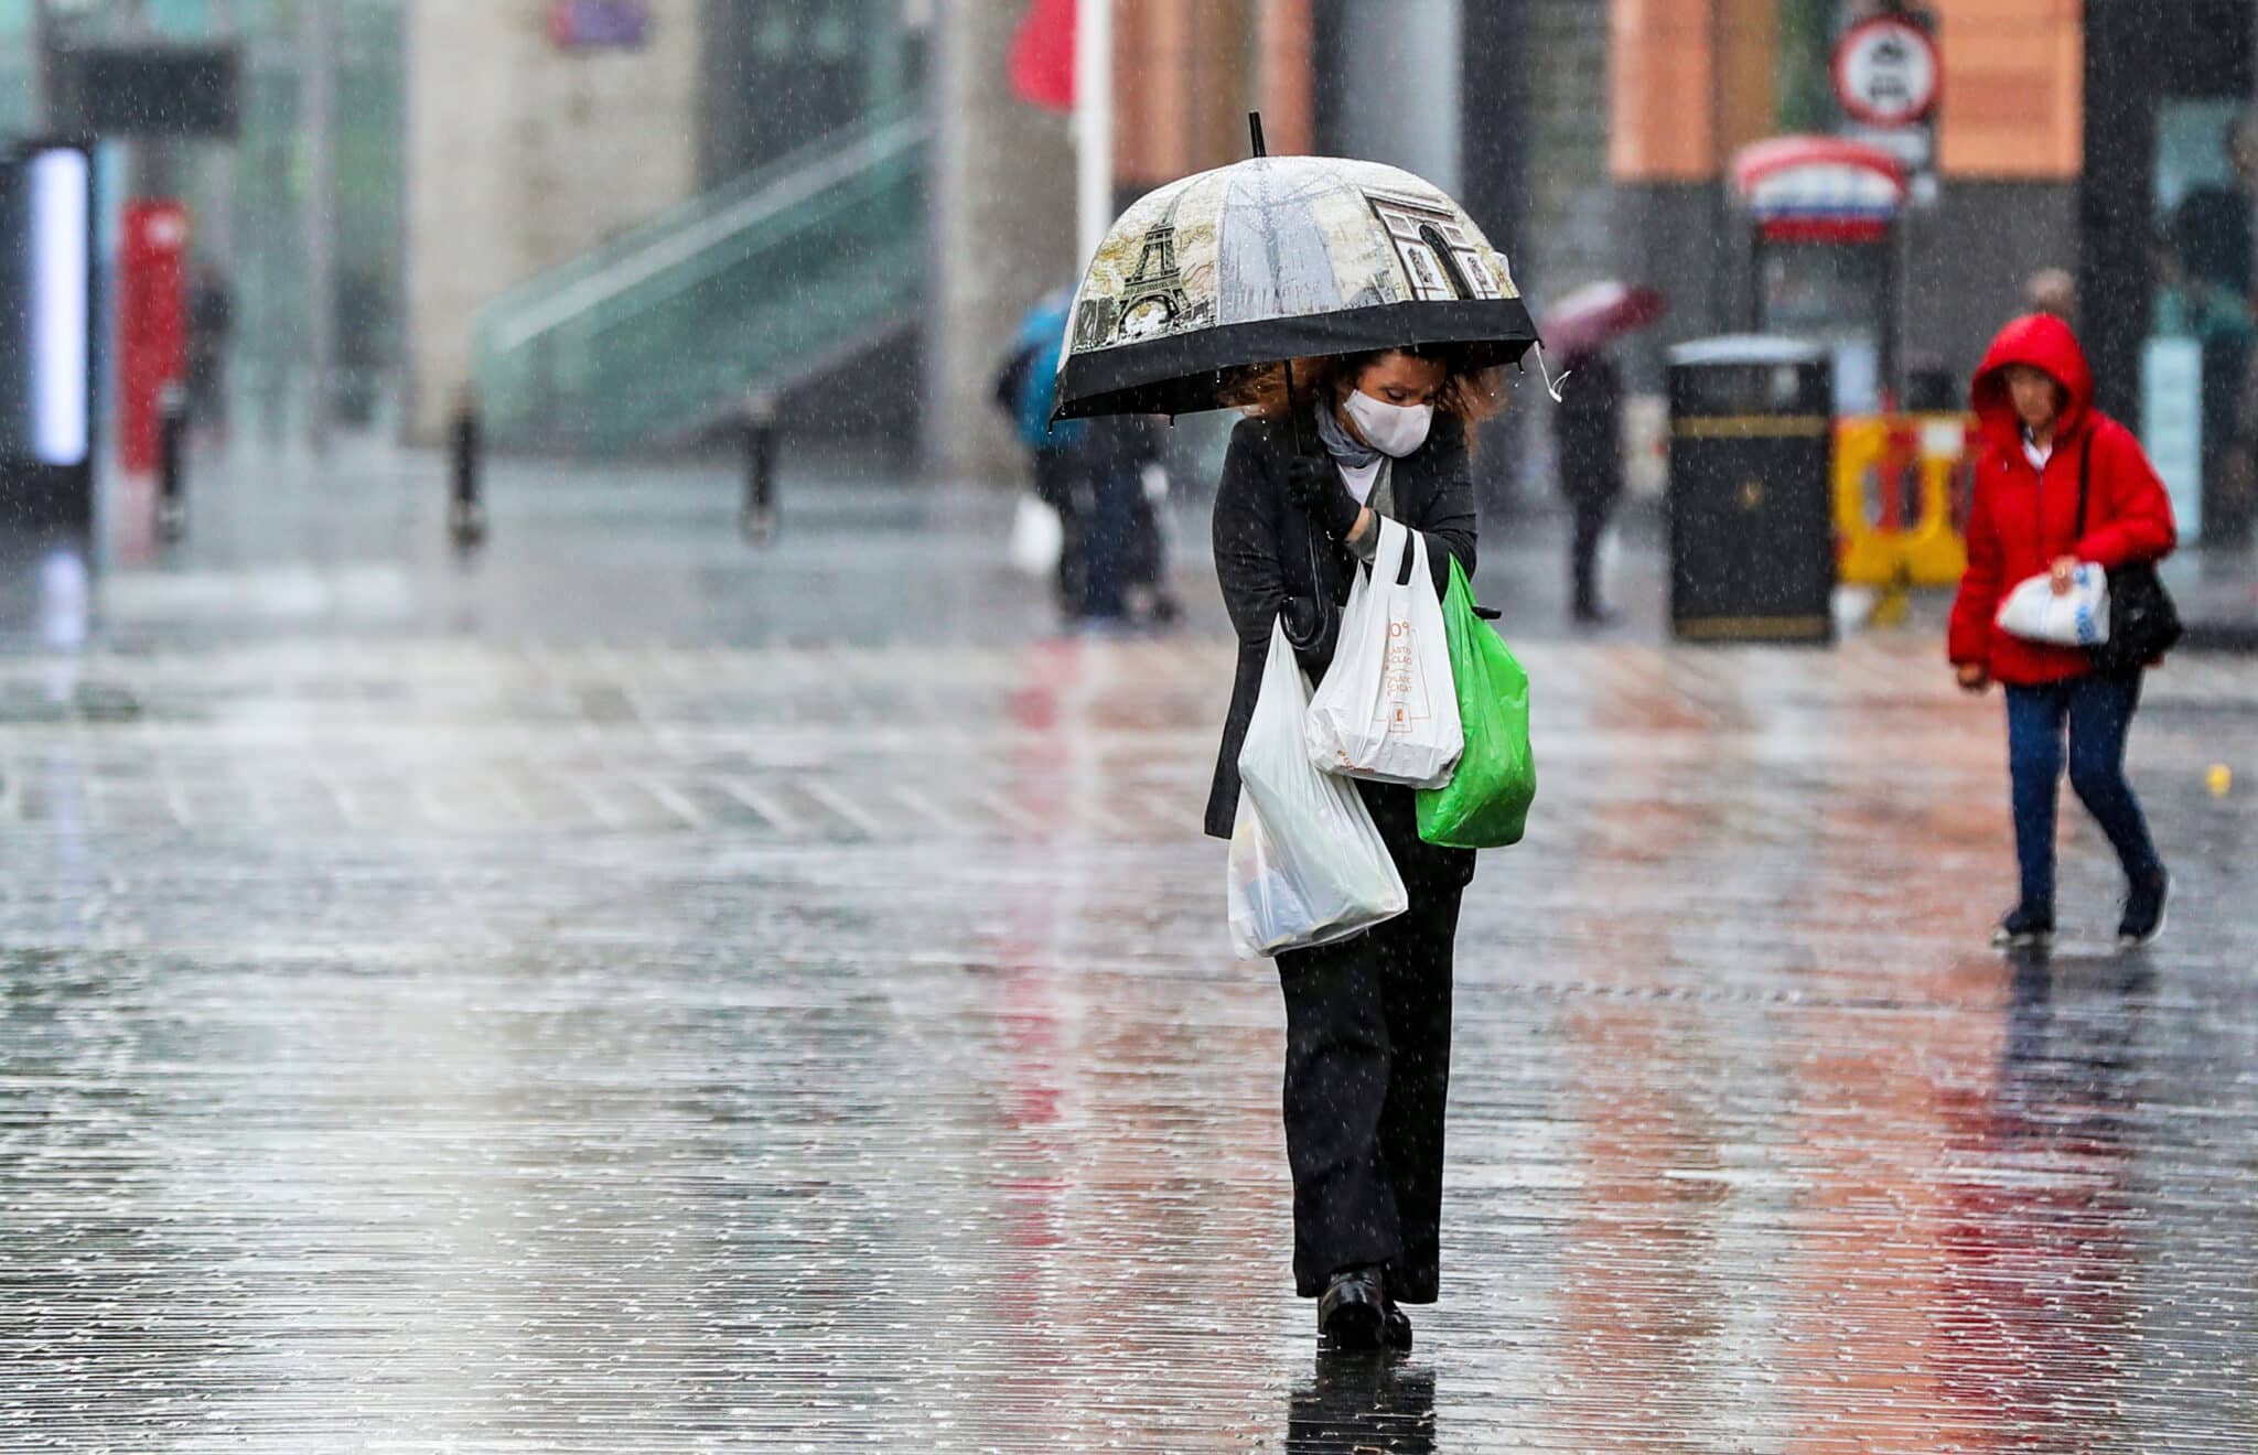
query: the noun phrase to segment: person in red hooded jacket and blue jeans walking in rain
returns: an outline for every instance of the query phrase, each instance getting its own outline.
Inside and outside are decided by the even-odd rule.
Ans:
[[[2163,929],[2172,880],[2141,801],[2125,781],[2125,733],[2141,672],[2095,672],[2080,647],[2001,632],[1998,605],[2032,575],[2068,593],[2080,562],[2154,562],[2179,541],[2172,501],[2132,431],[2093,408],[2093,370],[2062,318],[2016,318],[1992,343],[1971,390],[1983,422],[1969,568],[1953,602],[1951,661],[1960,686],[2007,690],[2007,765],[2023,893],[2001,920],[2001,947],[2043,947],[2055,934],[2055,805],[2068,731],[2071,787],[2109,835],[2129,893],[2123,947]],[[2077,517],[2080,478],[2086,519]]]

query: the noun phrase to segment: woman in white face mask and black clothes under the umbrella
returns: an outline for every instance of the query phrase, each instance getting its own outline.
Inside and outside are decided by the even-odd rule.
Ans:
[[[1215,499],[1215,568],[1237,629],[1237,677],[1206,830],[1231,837],[1237,758],[1271,625],[1301,665],[1332,661],[1341,605],[1380,517],[1427,539],[1434,587],[1474,568],[1468,431],[1495,411],[1495,372],[1447,350],[1384,350],[1255,372]],[[1294,1286],[1334,1344],[1411,1344],[1398,1304],[1441,1277],[1443,1103],[1452,947],[1474,855],[1418,837],[1411,790],[1357,783],[1411,896],[1350,941],[1278,956],[1285,990],[1285,1144],[1294,1173]]]

